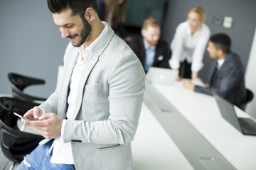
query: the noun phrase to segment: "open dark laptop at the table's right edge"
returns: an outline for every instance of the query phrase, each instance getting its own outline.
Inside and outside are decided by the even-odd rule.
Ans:
[[[234,105],[213,92],[220,113],[225,120],[244,135],[256,135],[256,122],[250,118],[238,118]]]

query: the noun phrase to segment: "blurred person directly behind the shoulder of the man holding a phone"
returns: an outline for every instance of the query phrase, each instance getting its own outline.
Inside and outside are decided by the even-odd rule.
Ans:
[[[109,23],[115,34],[127,42],[132,40],[124,27],[127,0],[97,0],[97,5],[100,19]]]

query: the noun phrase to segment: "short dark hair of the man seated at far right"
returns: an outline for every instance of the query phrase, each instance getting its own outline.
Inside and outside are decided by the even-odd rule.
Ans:
[[[217,49],[223,50],[223,52],[230,52],[231,40],[228,35],[224,33],[218,33],[210,37],[210,42],[213,42]]]

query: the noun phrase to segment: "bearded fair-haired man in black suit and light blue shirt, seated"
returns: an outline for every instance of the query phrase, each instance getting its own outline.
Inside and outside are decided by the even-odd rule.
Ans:
[[[139,57],[145,72],[149,67],[169,67],[171,51],[167,42],[159,40],[161,35],[160,23],[153,17],[146,18],[142,26],[142,36],[133,38],[129,46]]]

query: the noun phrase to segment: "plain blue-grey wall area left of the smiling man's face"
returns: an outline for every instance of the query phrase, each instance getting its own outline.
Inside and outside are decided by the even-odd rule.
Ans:
[[[46,0],[0,0],[0,38],[0,94],[11,94],[7,74],[18,72],[46,80],[28,87],[28,94],[49,96],[68,41],[60,37]]]

